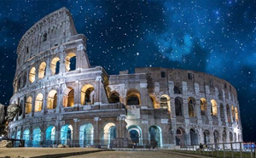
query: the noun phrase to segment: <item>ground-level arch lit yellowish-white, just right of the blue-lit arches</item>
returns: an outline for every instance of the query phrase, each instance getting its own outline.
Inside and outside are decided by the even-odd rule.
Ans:
[[[103,135],[103,140],[105,142],[104,144],[113,146],[113,138],[116,138],[116,127],[115,127],[115,124],[111,122],[106,124],[104,127],[104,135]]]

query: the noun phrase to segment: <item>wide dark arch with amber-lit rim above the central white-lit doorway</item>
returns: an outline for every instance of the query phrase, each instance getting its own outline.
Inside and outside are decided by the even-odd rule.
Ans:
[[[130,89],[126,93],[126,105],[140,105],[141,94],[137,89]]]

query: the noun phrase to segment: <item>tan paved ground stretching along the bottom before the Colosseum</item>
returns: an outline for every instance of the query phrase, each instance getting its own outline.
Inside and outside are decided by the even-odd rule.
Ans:
[[[83,151],[96,151],[97,149],[94,148],[63,148],[63,149],[57,149],[57,148],[11,148],[11,149],[5,149],[2,148],[0,150],[0,158],[5,156],[10,156],[11,158],[17,158],[17,157],[33,157],[38,155],[58,155],[58,154],[64,154],[64,153],[79,153]],[[58,156],[61,157],[61,156]],[[90,154],[83,154],[83,155],[71,155],[68,156],[69,158],[84,158],[84,157],[90,157],[90,158],[141,158],[141,157],[147,157],[147,158],[201,158],[203,156],[201,155],[187,155],[187,154],[181,154],[181,153],[175,153],[171,150],[156,150],[156,151],[101,151],[96,153],[90,153]]]

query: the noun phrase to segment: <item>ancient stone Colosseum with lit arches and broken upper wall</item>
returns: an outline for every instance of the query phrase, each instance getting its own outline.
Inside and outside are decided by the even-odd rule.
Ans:
[[[24,139],[26,146],[77,147],[242,141],[230,82],[153,67],[108,75],[101,66],[90,66],[86,47],[67,8],[26,31],[17,48],[10,99],[20,111],[9,123],[9,138]]]

